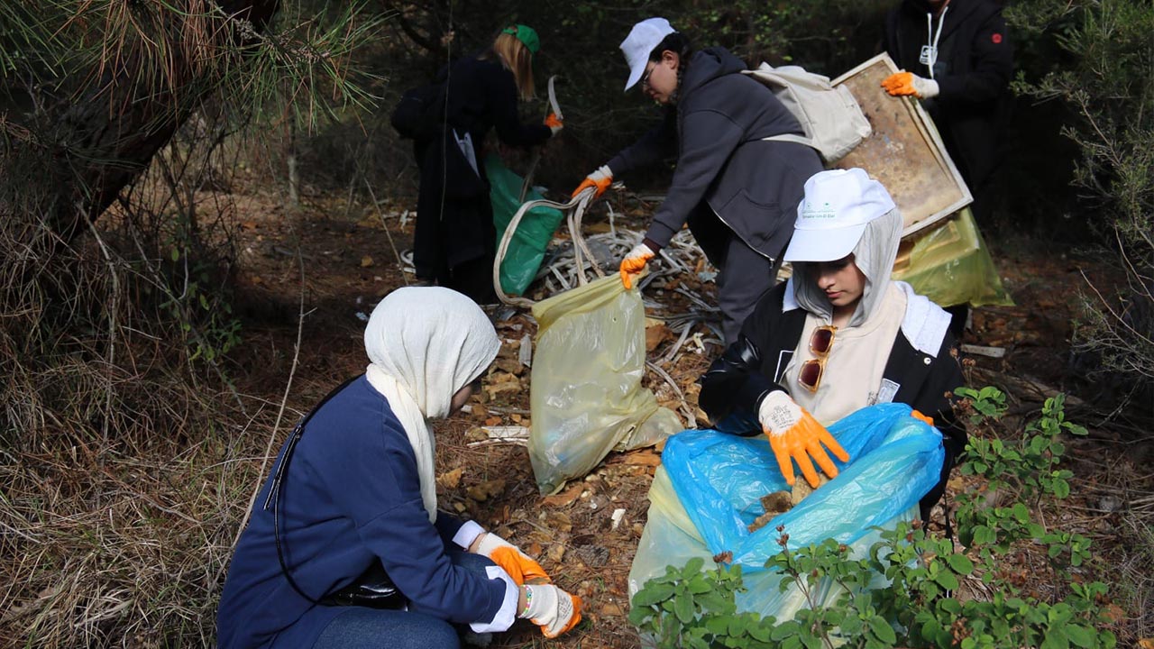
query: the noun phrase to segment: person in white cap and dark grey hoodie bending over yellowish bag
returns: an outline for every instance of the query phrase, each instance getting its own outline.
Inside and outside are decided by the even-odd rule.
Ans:
[[[677,156],[673,182],[645,237],[621,262],[631,288],[649,260],[685,224],[718,267],[725,343],[774,282],[789,223],[805,179],[822,170],[817,152],[794,142],[794,115],[773,92],[741,74],[745,62],[722,47],[694,51],[669,21],[646,18],[621,43],[629,66],[625,90],[666,107],[665,119],[574,191],[601,195],[615,177]]]

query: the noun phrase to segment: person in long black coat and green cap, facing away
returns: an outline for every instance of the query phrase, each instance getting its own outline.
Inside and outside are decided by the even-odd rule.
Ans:
[[[485,139],[490,130],[505,144],[544,144],[561,130],[550,113],[545,124],[525,125],[517,99],[533,97],[537,31],[505,28],[493,46],[449,66],[443,127],[415,142],[421,184],[413,233],[417,279],[463,292],[478,303],[495,301],[493,260],[496,231],[485,176]]]

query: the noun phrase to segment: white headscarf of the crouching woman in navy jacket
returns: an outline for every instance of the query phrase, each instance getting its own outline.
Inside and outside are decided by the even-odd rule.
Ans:
[[[427,419],[447,417],[452,395],[480,376],[500,348],[485,312],[449,289],[397,289],[368,319],[365,375],[405,428],[429,521],[436,520],[436,445]]]

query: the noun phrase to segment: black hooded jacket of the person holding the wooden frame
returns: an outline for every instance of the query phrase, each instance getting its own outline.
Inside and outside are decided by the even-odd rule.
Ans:
[[[938,40],[934,76],[937,97],[923,103],[946,150],[975,193],[989,180],[1001,157],[1009,117],[1013,47],[994,0],[950,0]],[[886,16],[885,49],[898,67],[929,79],[919,62],[928,45],[926,0],[902,0]],[[934,18],[935,33],[938,20]]]

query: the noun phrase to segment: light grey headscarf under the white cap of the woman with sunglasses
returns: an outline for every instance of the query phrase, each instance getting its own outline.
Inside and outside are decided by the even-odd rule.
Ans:
[[[854,246],[854,266],[865,276],[865,289],[849,319],[850,327],[857,327],[869,320],[885,297],[899,245],[901,245],[901,212],[898,208],[865,224],[862,238]],[[825,297],[825,291],[818,288],[815,278],[810,276],[810,268],[812,266],[809,263],[794,264],[794,299],[802,308],[823,316],[829,322],[833,318],[833,305]]]

